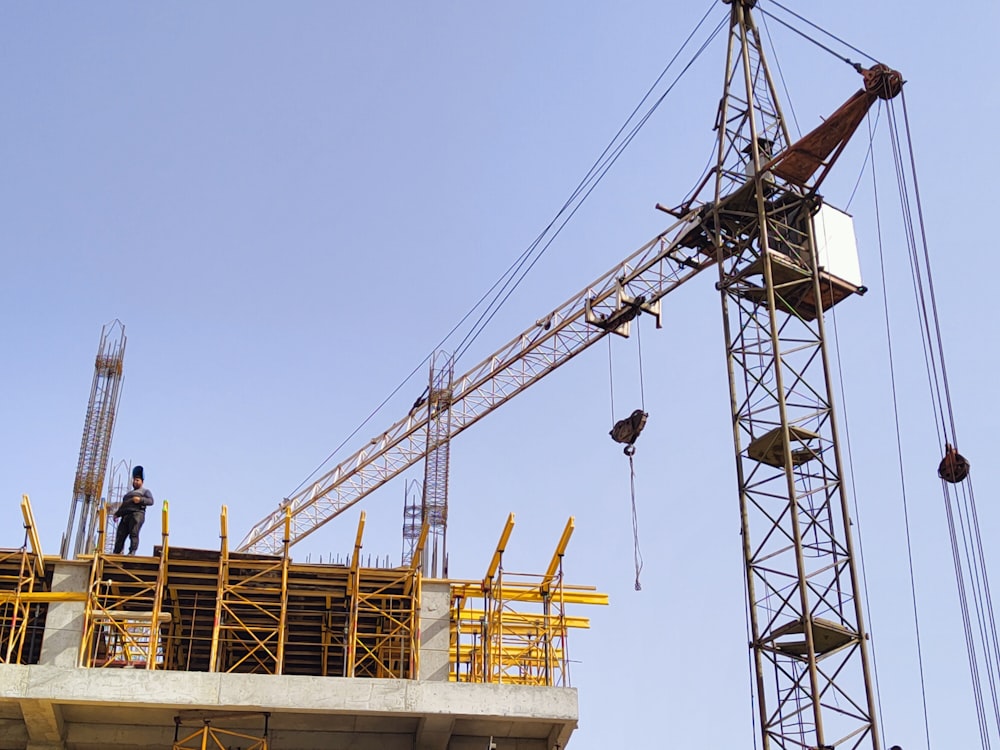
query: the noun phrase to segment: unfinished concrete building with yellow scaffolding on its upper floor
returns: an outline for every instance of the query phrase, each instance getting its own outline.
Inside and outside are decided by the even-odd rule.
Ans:
[[[0,550],[0,748],[563,747],[577,721],[567,608],[572,519],[539,575],[504,568],[510,517],[481,580],[171,548],[149,557]],[[104,528],[104,519],[98,528]],[[426,542],[418,541],[416,558]],[[103,540],[102,540],[103,542]]]

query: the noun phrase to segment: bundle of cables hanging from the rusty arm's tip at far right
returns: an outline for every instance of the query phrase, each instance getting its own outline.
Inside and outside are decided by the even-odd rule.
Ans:
[[[909,115],[906,109],[905,95],[902,98],[903,120],[905,125],[906,146],[908,148],[909,167],[913,180],[913,195],[916,203],[917,217],[920,229],[920,244],[923,257],[918,252],[916,237],[913,233],[912,212],[909,206],[909,191],[906,189],[905,164],[902,147],[899,143],[898,122],[890,109],[890,121],[893,124],[893,150],[896,158],[897,178],[900,182],[900,198],[903,211],[908,221],[909,234],[907,241],[911,252],[911,265],[918,314],[923,324],[924,350],[927,358],[928,376],[932,380],[931,398],[935,405],[935,417],[940,419],[938,429],[944,443],[944,458],[938,466],[942,479],[941,487],[944,496],[948,531],[951,540],[952,557],[955,566],[955,580],[959,593],[963,628],[965,630],[966,649],[968,652],[969,669],[973,683],[973,693],[976,703],[979,723],[980,740],[983,748],[990,747],[990,722],[987,718],[986,701],[983,696],[984,678],[988,683],[992,700],[993,720],[1000,733],[1000,702],[997,700],[997,681],[1000,679],[1000,644],[997,641],[995,617],[992,597],[989,591],[989,579],[983,556],[982,538],[979,531],[978,514],[975,508],[975,495],[972,490],[968,461],[957,451],[957,433],[955,428],[954,410],[952,407],[950,387],[944,363],[943,337],[934,294],[933,280],[930,271],[930,259],[927,249],[927,236],[923,221],[923,210],[920,201],[920,191],[916,179],[916,166],[913,154],[912,139],[909,129]],[[921,277],[921,262],[927,277],[925,292]],[[929,298],[929,311],[928,311]],[[940,374],[939,374],[940,372]],[[947,413],[946,413],[947,412]],[[952,499],[952,487],[956,497]],[[958,497],[958,495],[961,497]],[[956,522],[957,521],[957,522]],[[959,543],[961,533],[961,544]],[[964,554],[963,554],[964,553]],[[969,577],[968,588],[971,588],[972,604],[975,608],[975,620],[978,635],[973,628],[972,616],[969,612],[969,592],[966,576]],[[982,651],[984,664],[980,664],[978,653]]]

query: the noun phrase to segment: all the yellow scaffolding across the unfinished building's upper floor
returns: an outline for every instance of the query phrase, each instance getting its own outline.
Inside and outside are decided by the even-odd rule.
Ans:
[[[287,541],[280,556],[230,552],[225,507],[219,552],[172,548],[164,502],[162,541],[145,557],[105,551],[105,506],[86,590],[52,592],[27,496],[21,507],[25,543],[0,550],[4,662],[37,662],[49,605],[80,601],[82,667],[383,679],[420,673],[426,525],[407,566],[362,565],[364,513],[349,564],[295,564]],[[607,595],[563,580],[572,518],[540,576],[504,569],[513,527],[511,515],[482,580],[448,582],[451,679],[568,685],[567,633],[589,621],[567,614],[566,606],[607,604]],[[216,729],[209,723],[198,732],[209,742]],[[179,742],[194,742],[196,735]]]

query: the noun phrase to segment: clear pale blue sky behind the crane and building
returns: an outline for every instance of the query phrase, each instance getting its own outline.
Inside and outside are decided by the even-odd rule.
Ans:
[[[592,7],[593,6],[593,7]],[[680,6],[680,7],[678,7]],[[101,326],[126,326],[115,459],[171,503],[171,543],[215,548],[292,492],[417,366],[569,196],[712,3],[5,3],[0,5],[0,546],[28,493],[55,552]],[[725,13],[715,3],[717,19]],[[762,3],[762,7],[767,7]],[[995,537],[994,248],[977,229],[997,161],[996,2],[793,3],[900,69],[980,523]],[[800,128],[859,85],[772,27]],[[665,228],[712,153],[723,48],[701,58],[466,359],[530,326]],[[884,136],[884,133],[883,133]],[[882,139],[882,151],[887,141]],[[864,146],[827,198],[844,205]],[[886,201],[892,200],[885,173]],[[838,311],[888,744],[923,746],[901,490],[870,195],[851,205],[872,291]],[[989,207],[986,206],[987,220]],[[976,744],[938,455],[904,245],[898,293],[907,500],[931,735]],[[891,287],[892,288],[892,287]],[[750,747],[749,662],[722,326],[710,279],[643,331],[649,426],[636,455],[643,591],[632,590],[627,463],[607,437],[595,347],[452,449],[451,574],[483,574],[508,512],[510,570],[544,568],[566,518],[570,580],[610,593],[571,640],[574,750]],[[639,405],[615,342],[618,416]],[[395,422],[423,369],[347,446]],[[842,420],[843,423],[843,420]],[[412,476],[418,477],[419,472]],[[401,481],[368,498],[366,552],[400,553]],[[357,511],[295,555],[349,551]],[[156,542],[155,516],[143,547]],[[993,569],[1000,561],[989,560]]]

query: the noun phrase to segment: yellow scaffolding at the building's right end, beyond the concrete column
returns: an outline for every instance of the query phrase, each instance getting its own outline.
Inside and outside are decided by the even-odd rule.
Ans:
[[[566,605],[607,604],[607,594],[563,581],[562,559],[573,518],[541,576],[504,571],[503,555],[513,530],[510,514],[482,581],[452,584],[451,679],[569,686],[567,633],[590,627],[590,621],[567,615]]]

